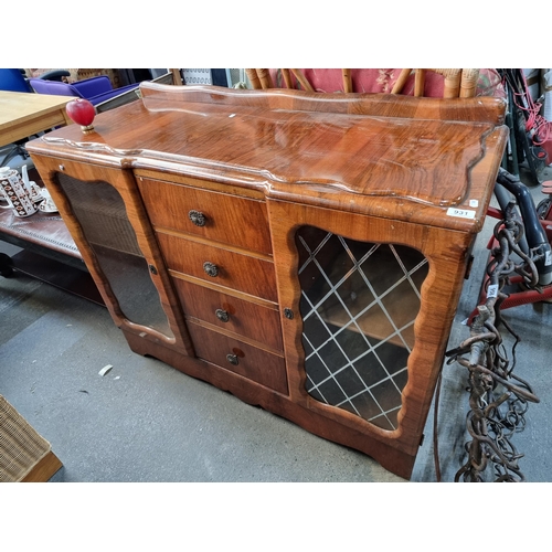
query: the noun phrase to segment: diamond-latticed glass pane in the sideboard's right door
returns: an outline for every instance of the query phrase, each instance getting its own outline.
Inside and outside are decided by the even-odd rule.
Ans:
[[[427,259],[314,226],[295,236],[308,394],[393,431]]]

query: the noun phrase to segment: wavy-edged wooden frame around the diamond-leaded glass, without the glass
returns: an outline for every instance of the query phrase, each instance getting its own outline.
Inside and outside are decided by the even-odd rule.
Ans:
[[[415,457],[443,367],[474,236],[280,200],[269,199],[267,205],[291,401]],[[408,380],[402,393],[399,427],[394,431],[382,429],[350,412],[321,403],[305,389],[298,252],[295,245],[295,233],[304,225],[350,240],[413,247],[428,261],[428,274],[421,289],[421,308],[414,323],[415,344],[408,357]],[[291,311],[291,317],[286,309]]]

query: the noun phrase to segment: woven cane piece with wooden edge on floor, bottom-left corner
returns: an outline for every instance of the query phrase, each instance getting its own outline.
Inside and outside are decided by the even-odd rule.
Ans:
[[[47,481],[61,467],[50,443],[0,395],[0,482]]]

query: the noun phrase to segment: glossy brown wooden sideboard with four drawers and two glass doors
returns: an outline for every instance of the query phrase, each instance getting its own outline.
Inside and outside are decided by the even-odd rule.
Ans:
[[[28,145],[130,348],[408,478],[505,103],[141,92]]]

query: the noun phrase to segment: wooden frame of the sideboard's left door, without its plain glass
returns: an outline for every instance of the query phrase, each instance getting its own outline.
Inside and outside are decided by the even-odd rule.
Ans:
[[[187,355],[194,357],[193,346],[187,331],[183,314],[180,310],[177,295],[172,288],[171,279],[164,266],[153,230],[149,224],[149,219],[132,171],[130,169],[117,169],[73,160],[70,161],[36,153],[33,153],[32,157],[116,326],[141,338],[164,346],[176,347]],[[150,277],[159,294],[161,308],[167,316],[169,327],[174,336],[173,338],[147,326],[132,322],[125,316],[112,286],[96,259],[95,253],[87,242],[78,220],[73,213],[70,201],[57,183],[56,174],[59,173],[84,182],[107,182],[120,194],[127,217],[135,231],[138,246],[148,266],[153,267],[150,268]]]

